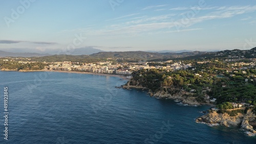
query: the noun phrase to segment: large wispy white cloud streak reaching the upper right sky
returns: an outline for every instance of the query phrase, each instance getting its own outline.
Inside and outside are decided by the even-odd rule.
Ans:
[[[182,9],[182,8],[180,8]],[[211,9],[210,12],[203,12],[195,14],[191,18],[186,18],[184,16],[179,16],[178,14],[166,14],[158,16],[137,16],[130,17],[135,14],[126,15],[119,17],[118,19],[126,17],[127,21],[121,23],[115,23],[114,25],[105,26],[101,30],[90,30],[87,31],[88,35],[97,36],[108,36],[115,38],[116,36],[136,36],[140,34],[148,33],[164,33],[165,30],[173,30],[170,32],[186,32],[186,31],[196,31],[200,29],[189,29],[190,26],[196,23],[202,23],[207,20],[214,19],[224,19],[229,17],[234,17],[237,15],[249,13],[256,11],[256,6],[236,6],[236,7],[207,7],[204,8]],[[186,16],[186,15],[185,15]],[[130,18],[130,19],[127,19]],[[175,18],[175,20],[174,20]],[[254,21],[252,21],[253,23]],[[172,28],[172,29],[171,29]],[[176,29],[175,29],[176,28]],[[175,31],[176,30],[176,31]]]

